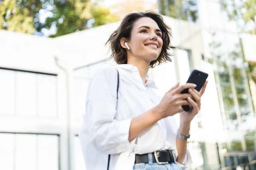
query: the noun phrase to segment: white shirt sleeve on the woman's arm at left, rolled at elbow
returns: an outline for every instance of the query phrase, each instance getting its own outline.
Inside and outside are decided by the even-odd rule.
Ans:
[[[128,141],[131,119],[115,120],[117,71],[106,66],[94,74],[87,90],[84,124],[90,142],[106,154],[121,153],[131,149]]]

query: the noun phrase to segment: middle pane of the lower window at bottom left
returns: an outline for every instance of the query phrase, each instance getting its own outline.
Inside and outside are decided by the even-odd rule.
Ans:
[[[36,135],[16,134],[16,170],[36,170]]]

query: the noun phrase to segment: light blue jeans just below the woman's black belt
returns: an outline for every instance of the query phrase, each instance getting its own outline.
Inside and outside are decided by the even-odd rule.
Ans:
[[[176,163],[171,163],[171,164],[146,164],[146,163],[139,163],[139,164],[134,164],[134,169],[133,170],[181,170],[180,165]]]

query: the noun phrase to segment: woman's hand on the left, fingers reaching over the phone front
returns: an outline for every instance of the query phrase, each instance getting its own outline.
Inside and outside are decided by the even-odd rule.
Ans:
[[[192,96],[191,94],[180,94],[180,92],[184,89],[195,87],[196,85],[192,83],[186,83],[180,86],[179,83],[177,83],[174,87],[167,91],[160,103],[155,107],[157,111],[162,114],[162,118],[183,112],[184,110],[182,106],[190,105],[186,99],[188,97],[192,98]]]

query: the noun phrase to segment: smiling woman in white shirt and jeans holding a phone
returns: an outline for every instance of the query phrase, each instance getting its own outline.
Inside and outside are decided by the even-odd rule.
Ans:
[[[207,82],[200,92],[194,84],[177,83],[161,98],[146,80],[149,68],[171,61],[171,37],[171,28],[154,12],[128,14],[111,34],[107,43],[118,65],[93,76],[79,134],[87,170],[107,170],[108,163],[109,170],[180,170],[191,163],[190,122]],[[186,88],[189,94],[180,94]],[[192,109],[183,111],[182,105]]]

